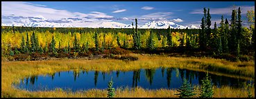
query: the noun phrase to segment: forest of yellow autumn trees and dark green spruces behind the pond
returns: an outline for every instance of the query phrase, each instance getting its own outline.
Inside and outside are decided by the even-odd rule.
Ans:
[[[255,28],[252,12],[250,27],[242,26],[241,10],[232,10],[231,20],[212,21],[204,8],[200,29],[135,28],[28,28],[1,26],[1,56],[10,61],[42,56],[83,57],[95,54],[178,53],[210,56],[230,61],[253,59]],[[216,26],[219,24],[219,27]],[[133,23],[132,23],[133,25]]]

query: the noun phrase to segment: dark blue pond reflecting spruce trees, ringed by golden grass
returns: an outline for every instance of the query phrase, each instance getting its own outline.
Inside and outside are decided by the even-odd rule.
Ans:
[[[205,74],[205,72],[172,67],[138,69],[129,72],[95,72],[81,70],[79,72],[57,72],[53,75],[23,78],[21,83],[15,85],[15,87],[28,91],[45,91],[56,88],[69,91],[107,89],[108,82],[112,78],[114,88],[142,87],[144,89],[178,89],[182,85],[183,78],[187,78],[192,85],[201,85],[201,80],[205,78]],[[217,87],[228,85],[241,88],[244,87],[244,83],[253,82],[241,78],[230,78],[214,74],[209,74],[209,76],[212,83]]]

